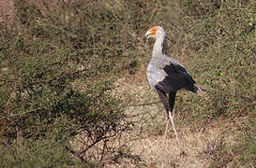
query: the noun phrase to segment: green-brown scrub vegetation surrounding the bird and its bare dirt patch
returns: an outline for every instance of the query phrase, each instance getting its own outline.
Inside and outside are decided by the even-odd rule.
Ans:
[[[0,25],[1,166],[143,166],[122,141],[138,127],[125,113],[130,98],[113,90],[144,71],[153,41],[143,35],[155,24],[171,38],[169,55],[208,91],[205,100],[178,94],[179,126],[231,123],[235,143],[202,151],[210,166],[256,164],[254,1],[14,0],[13,8]]]

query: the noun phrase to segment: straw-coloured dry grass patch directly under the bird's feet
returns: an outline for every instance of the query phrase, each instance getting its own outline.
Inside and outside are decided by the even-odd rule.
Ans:
[[[203,151],[206,152],[209,144],[218,141],[219,130],[210,129],[203,133],[193,133],[186,128],[180,128],[178,133],[185,154],[181,154],[173,132],[166,141],[164,152],[162,151],[162,135],[138,141],[133,148],[134,152],[142,153],[141,156],[146,165],[155,164],[157,167],[208,167],[209,161],[203,157]]]

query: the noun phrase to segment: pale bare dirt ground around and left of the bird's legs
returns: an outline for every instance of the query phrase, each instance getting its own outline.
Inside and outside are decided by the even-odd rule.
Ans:
[[[212,127],[203,130],[197,123],[188,127],[176,124],[182,147],[178,146],[173,129],[169,127],[163,151],[166,112],[158,102],[157,93],[148,86],[143,71],[135,77],[123,78],[116,82],[114,94],[123,95],[124,99],[128,99],[124,102],[128,105],[126,114],[128,119],[137,124],[134,132],[127,138],[136,139],[132,141],[132,152],[142,157],[147,168],[208,167],[209,161],[205,155],[214,154],[218,146],[225,141],[232,142],[233,137],[223,136],[223,130],[220,128]],[[119,167],[133,166],[125,163]]]

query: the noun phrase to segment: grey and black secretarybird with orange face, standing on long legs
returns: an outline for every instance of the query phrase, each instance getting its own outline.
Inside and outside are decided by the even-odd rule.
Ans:
[[[173,131],[180,146],[180,140],[173,122],[173,105],[176,92],[181,89],[195,93],[203,93],[204,91],[196,85],[194,79],[190,77],[187,69],[181,63],[165,54],[167,37],[163,28],[160,26],[153,26],[146,32],[145,36],[147,38],[156,38],[152,51],[152,58],[147,66],[146,76],[149,85],[158,92],[158,96],[168,115],[163,145],[171,120]]]

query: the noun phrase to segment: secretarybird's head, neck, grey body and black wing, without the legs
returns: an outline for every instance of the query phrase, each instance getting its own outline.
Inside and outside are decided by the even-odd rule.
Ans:
[[[157,87],[167,93],[181,89],[192,92],[203,91],[190,77],[183,64],[165,54],[166,34],[160,26],[152,27],[146,36],[156,38],[152,58],[146,71],[149,85],[152,88],[156,89]]]

